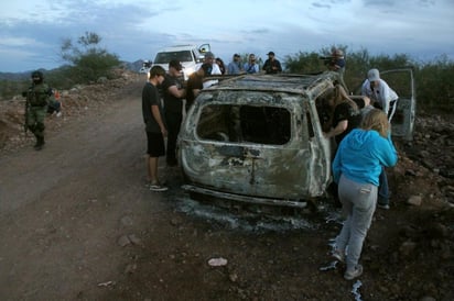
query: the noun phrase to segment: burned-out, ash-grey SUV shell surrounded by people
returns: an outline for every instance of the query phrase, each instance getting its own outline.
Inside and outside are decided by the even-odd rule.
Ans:
[[[324,196],[333,145],[323,135],[323,103],[336,80],[329,71],[245,75],[202,90],[179,136],[183,189],[293,208]]]

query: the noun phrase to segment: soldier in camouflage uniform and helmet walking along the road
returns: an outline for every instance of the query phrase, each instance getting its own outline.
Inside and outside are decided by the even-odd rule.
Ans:
[[[44,118],[52,94],[52,89],[43,80],[43,73],[33,71],[33,83],[26,92],[23,92],[23,96],[26,97],[25,131],[30,130],[35,135],[34,149],[36,150],[41,150],[44,146]]]

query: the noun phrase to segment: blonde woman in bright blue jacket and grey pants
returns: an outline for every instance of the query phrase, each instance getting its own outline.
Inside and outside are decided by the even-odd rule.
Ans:
[[[333,256],[340,261],[346,259],[347,280],[363,274],[358,260],[376,209],[381,167],[394,166],[397,160],[387,114],[377,109],[365,116],[360,127],[353,130],[337,149],[333,177],[347,219],[336,237]]]

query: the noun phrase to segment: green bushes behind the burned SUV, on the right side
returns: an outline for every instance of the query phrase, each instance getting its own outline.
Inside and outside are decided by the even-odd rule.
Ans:
[[[331,48],[331,47],[329,47]],[[323,71],[326,67],[321,56],[329,55],[329,48],[318,53],[296,53],[284,59],[287,71],[294,74],[313,74]],[[418,108],[430,112],[454,112],[454,62],[442,55],[434,62],[417,63],[406,54],[394,56],[370,56],[367,49],[348,53],[343,49],[346,59],[344,80],[352,91],[357,91],[371,68],[379,70],[412,67],[415,78]]]

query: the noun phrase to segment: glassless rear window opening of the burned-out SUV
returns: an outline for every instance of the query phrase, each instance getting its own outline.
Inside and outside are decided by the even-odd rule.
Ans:
[[[204,107],[196,133],[202,140],[283,145],[291,137],[289,110],[277,107]]]

